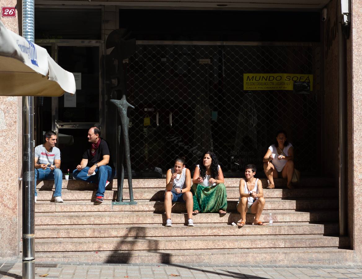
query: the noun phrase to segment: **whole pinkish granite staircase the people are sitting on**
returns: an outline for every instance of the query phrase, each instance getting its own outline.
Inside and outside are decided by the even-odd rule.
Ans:
[[[262,179],[266,186],[266,179]],[[353,262],[348,237],[338,236],[338,193],[328,181],[304,179],[302,189],[264,189],[261,220],[273,225],[231,225],[239,179],[226,178],[227,214],[198,214],[187,227],[185,205],[172,209],[173,227],[164,226],[164,179],[134,179],[136,205],[112,205],[117,180],[95,205],[94,184],[63,180],[64,203],[54,203],[51,181],[37,185],[35,256],[37,261],[102,263],[340,264]],[[320,187],[317,187],[316,185]],[[315,186],[313,186],[315,185]],[[127,181],[125,181],[125,187]],[[128,189],[123,190],[129,199]]]

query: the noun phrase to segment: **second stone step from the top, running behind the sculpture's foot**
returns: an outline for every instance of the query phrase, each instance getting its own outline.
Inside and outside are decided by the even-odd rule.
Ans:
[[[325,189],[264,189],[264,198],[332,198],[336,197],[336,191],[325,191]],[[38,189],[38,200],[54,200],[54,190]],[[136,188],[133,191],[134,200],[163,200],[164,188],[141,189]],[[228,187],[226,190],[227,197],[238,199],[239,187]],[[94,200],[96,198],[95,190],[62,190],[64,200]],[[115,200],[117,190],[106,190],[105,200]],[[123,199],[130,199],[129,189],[123,190]]]

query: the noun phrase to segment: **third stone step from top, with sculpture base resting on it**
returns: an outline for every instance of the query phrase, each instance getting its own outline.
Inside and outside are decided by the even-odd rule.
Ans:
[[[228,200],[227,211],[236,211],[237,199]],[[336,209],[338,201],[326,199],[321,202],[320,199],[313,200],[281,200],[270,198],[265,202],[264,210],[313,210],[313,209]],[[185,212],[185,203],[174,203],[173,212]],[[64,203],[54,203],[39,201],[35,205],[35,212],[90,212],[90,211],[152,211],[164,212],[163,201],[138,201],[134,205],[113,205],[111,201],[105,201],[102,204],[85,201],[65,201]]]

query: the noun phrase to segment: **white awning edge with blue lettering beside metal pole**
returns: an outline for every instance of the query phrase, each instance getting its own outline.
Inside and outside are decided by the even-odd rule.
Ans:
[[[72,73],[45,48],[8,30],[0,21],[0,96],[62,96],[75,93]]]

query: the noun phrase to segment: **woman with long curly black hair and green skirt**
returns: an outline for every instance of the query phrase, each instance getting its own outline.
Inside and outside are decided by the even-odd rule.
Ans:
[[[206,152],[195,168],[191,192],[194,199],[193,214],[219,212],[226,214],[227,200],[224,175],[218,158]]]

